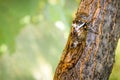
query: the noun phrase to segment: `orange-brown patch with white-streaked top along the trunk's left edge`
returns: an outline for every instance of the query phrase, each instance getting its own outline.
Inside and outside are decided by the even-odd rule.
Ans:
[[[60,62],[56,69],[57,73],[54,75],[54,80],[57,77],[58,80],[61,80],[63,73],[67,73],[76,65],[85,49],[87,33],[87,22],[79,19],[73,21],[66,47],[63,50]]]

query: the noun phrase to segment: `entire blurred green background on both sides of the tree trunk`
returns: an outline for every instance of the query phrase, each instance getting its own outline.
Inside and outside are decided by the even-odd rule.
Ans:
[[[0,80],[52,80],[79,0],[0,0]],[[120,80],[120,40],[110,80]]]

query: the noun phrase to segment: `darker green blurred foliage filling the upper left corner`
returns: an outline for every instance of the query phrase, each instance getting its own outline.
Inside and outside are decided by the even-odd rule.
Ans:
[[[15,37],[23,26],[20,19],[33,15],[37,7],[38,0],[0,0],[0,45],[14,51]]]

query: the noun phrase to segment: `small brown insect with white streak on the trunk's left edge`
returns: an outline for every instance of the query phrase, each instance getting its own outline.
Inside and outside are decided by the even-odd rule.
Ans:
[[[78,43],[81,43],[82,41],[86,40],[88,26],[86,22],[83,22],[81,20],[75,21],[72,24],[72,35],[76,37],[73,40],[73,47],[76,47]]]

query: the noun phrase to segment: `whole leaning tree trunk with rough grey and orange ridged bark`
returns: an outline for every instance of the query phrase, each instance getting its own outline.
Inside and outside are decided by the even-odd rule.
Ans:
[[[118,3],[81,0],[54,80],[109,79],[120,37]]]

